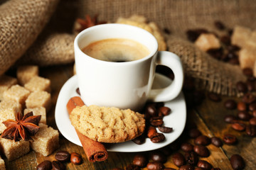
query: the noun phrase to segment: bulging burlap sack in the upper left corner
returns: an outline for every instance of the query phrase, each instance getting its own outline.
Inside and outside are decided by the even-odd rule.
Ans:
[[[58,0],[10,0],[0,6],[0,75],[36,40]]]

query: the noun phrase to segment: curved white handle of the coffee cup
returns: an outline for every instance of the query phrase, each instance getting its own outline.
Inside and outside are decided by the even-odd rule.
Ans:
[[[149,100],[154,102],[171,101],[180,94],[183,85],[183,67],[181,59],[172,52],[158,52],[156,64],[169,67],[174,72],[174,81],[163,89],[151,89]]]

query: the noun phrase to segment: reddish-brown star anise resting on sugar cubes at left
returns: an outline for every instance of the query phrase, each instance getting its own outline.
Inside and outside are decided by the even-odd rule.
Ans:
[[[39,130],[38,123],[41,120],[41,115],[33,115],[33,112],[22,115],[17,113],[16,120],[6,120],[4,125],[7,127],[1,137],[15,142],[23,140],[33,140],[31,136],[36,135]]]

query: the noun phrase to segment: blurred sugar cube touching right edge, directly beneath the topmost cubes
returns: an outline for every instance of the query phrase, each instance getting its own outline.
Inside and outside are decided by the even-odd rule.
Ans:
[[[242,69],[253,68],[256,60],[256,48],[242,48],[239,52],[239,63]]]

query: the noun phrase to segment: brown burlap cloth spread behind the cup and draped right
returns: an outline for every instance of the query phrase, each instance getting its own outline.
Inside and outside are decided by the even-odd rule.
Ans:
[[[114,22],[120,16],[139,14],[154,21],[160,28],[171,30],[171,35],[166,35],[169,50],[181,57],[186,75],[196,78],[198,86],[233,96],[238,94],[235,83],[245,80],[240,68],[214,60],[201,52],[188,42],[185,33],[188,29],[206,28],[223,35],[213,26],[217,20],[223,21],[228,28],[240,25],[256,29],[255,11],[253,0],[63,0],[45,34],[27,50],[19,63],[26,61],[43,66],[73,62],[72,30],[75,18],[99,14],[100,21]]]

